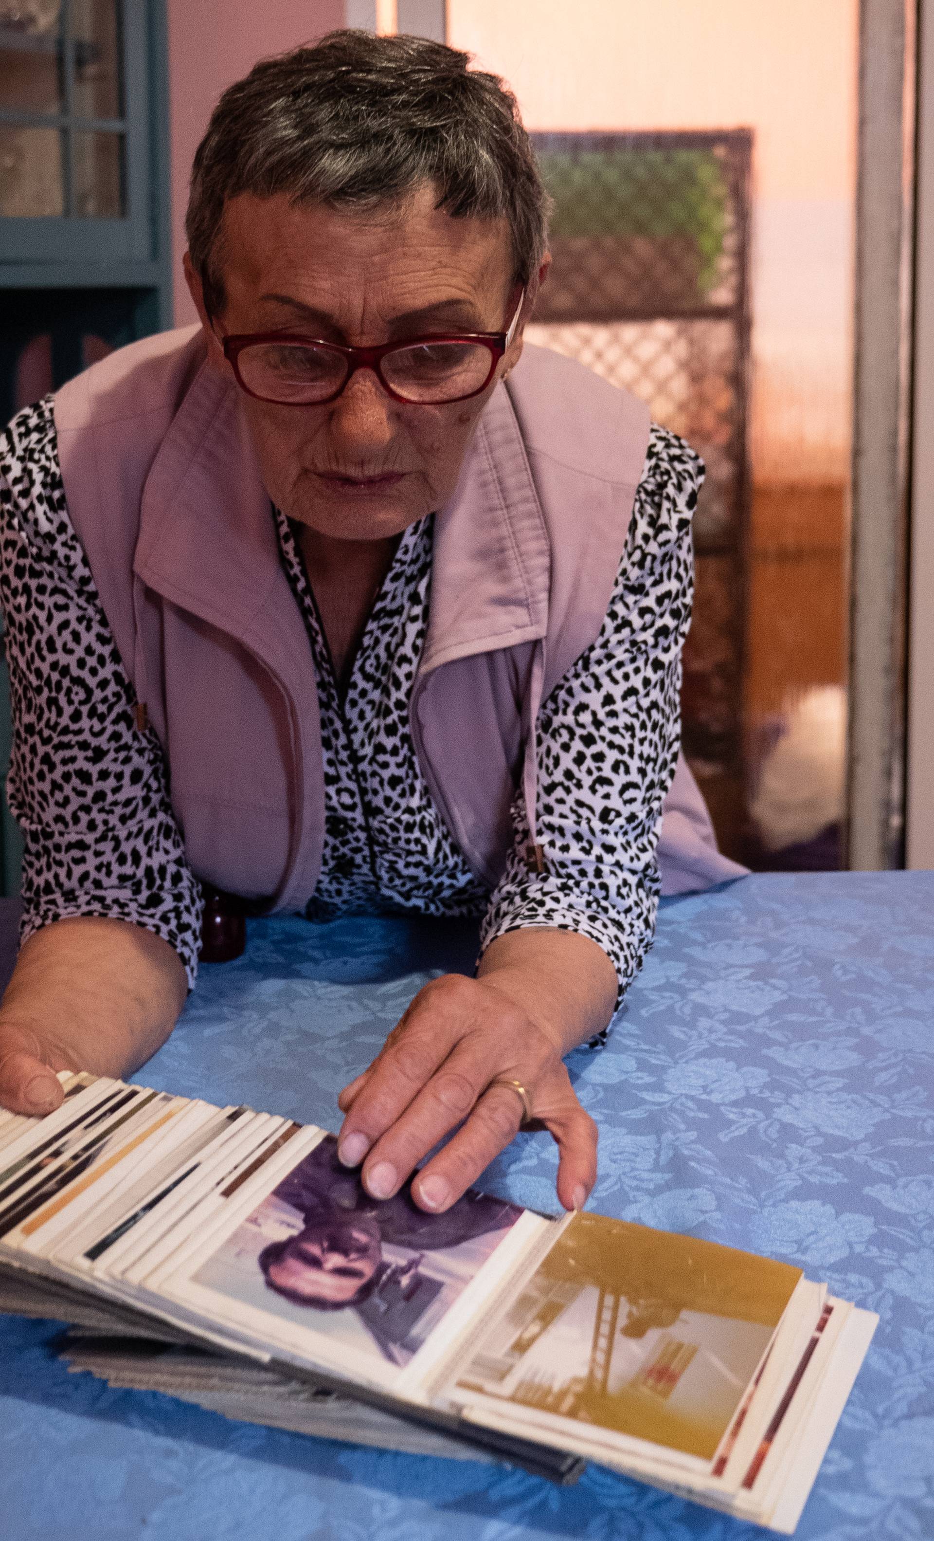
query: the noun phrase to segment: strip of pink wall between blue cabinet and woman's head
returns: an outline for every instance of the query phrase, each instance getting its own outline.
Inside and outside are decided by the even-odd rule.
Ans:
[[[188,173],[211,108],[267,54],[307,43],[344,26],[344,0],[168,0],[171,116],[171,222],[176,325],[196,319],[185,288]]]

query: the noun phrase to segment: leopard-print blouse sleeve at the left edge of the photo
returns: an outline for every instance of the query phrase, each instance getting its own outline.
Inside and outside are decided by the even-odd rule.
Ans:
[[[168,942],[190,986],[200,888],[134,692],[74,533],[52,402],[0,433],[0,604],[12,709],[6,794],[23,831],[22,940],[97,915]]]

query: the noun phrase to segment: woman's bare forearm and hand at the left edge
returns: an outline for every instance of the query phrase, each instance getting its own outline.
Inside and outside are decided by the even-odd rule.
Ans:
[[[186,995],[182,962],[125,920],[57,920],[25,942],[0,1005],[0,1103],[48,1113],[54,1071],[125,1076],[170,1036]]]

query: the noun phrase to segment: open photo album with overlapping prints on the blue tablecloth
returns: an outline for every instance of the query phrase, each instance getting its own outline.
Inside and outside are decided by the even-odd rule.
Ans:
[[[877,1324],[800,1268],[473,1191],[425,1214],[313,1125],[60,1080],[0,1113],[0,1310],[71,1324],[71,1370],[794,1530]]]

